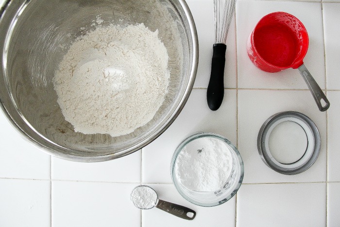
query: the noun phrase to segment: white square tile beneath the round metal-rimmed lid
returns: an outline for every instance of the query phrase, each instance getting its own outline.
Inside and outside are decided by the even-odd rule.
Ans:
[[[297,175],[275,172],[261,160],[257,150],[257,135],[263,123],[273,114],[284,111],[306,114],[314,121],[321,135],[318,159],[309,169]],[[287,134],[293,132],[287,131]],[[289,146],[295,148],[300,143],[298,141],[296,146]],[[243,183],[326,181],[326,113],[319,111],[309,91],[240,90],[238,150],[244,162]]]

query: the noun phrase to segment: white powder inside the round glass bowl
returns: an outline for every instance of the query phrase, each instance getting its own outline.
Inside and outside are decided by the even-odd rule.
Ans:
[[[184,187],[198,192],[213,192],[223,188],[233,163],[230,148],[216,138],[191,141],[178,154],[176,178]]]

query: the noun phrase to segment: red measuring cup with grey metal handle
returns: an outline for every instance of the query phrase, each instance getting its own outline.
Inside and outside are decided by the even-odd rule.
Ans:
[[[297,68],[319,110],[326,111],[330,103],[303,62],[308,44],[308,33],[298,18],[285,12],[274,12],[256,24],[249,35],[247,51],[250,60],[263,71]]]

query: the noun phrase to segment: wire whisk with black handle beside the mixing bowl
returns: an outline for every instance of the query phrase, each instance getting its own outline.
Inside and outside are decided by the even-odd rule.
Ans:
[[[222,27],[220,30],[220,0],[214,0],[214,32],[215,44],[213,45],[213,56],[211,60],[211,74],[206,92],[206,99],[210,110],[216,111],[220,108],[224,97],[224,66],[225,45],[231,20],[235,11],[236,0],[225,0]]]

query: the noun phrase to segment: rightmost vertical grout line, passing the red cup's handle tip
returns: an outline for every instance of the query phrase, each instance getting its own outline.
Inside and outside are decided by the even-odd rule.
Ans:
[[[321,19],[323,26],[323,58],[324,58],[324,86],[326,88],[325,95],[327,97],[327,66],[326,66],[326,39],[325,39],[325,31],[324,31],[324,15],[323,15],[323,2],[321,2]],[[328,212],[328,111],[326,111],[326,227],[328,226],[327,221],[327,212]]]

